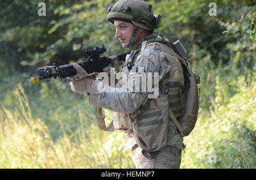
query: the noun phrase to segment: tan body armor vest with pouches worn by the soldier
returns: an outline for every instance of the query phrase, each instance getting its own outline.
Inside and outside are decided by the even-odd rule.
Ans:
[[[127,65],[135,64],[137,56],[147,48],[162,52],[171,66],[159,82],[160,95],[155,99],[148,99],[136,112],[127,114],[113,112],[114,129],[134,132],[137,144],[145,151],[157,151],[166,145],[174,145],[172,139],[177,134],[177,128],[168,115],[169,108],[175,117],[180,117],[184,112],[185,99],[183,94],[184,75],[181,59],[172,49],[171,42],[165,37],[154,37],[142,42],[133,57],[127,55],[121,72],[129,73]],[[172,138],[168,137],[168,133]],[[176,136],[175,136],[176,137]],[[182,141],[182,140],[181,140]]]

